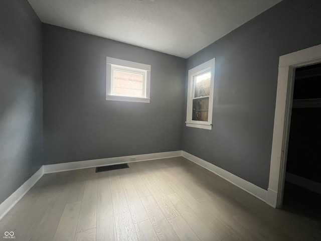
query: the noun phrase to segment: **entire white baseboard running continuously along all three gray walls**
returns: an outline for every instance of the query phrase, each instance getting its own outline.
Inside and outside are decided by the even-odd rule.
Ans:
[[[15,204],[28,192],[30,188],[46,173],[63,172],[75,169],[106,166],[120,163],[129,162],[139,162],[154,159],[163,159],[171,157],[183,156],[186,159],[198,164],[199,166],[215,173],[216,175],[224,178],[225,180],[231,182],[232,184],[238,186],[239,188],[245,190],[246,192],[252,194],[253,196],[268,202],[268,191],[228,172],[222,168],[219,168],[212,163],[209,163],[201,158],[193,156],[184,151],[173,151],[173,152],[161,152],[161,153],[150,153],[142,155],[124,156],[124,157],[112,157],[112,158],[102,158],[88,161],[79,162],[67,162],[52,165],[42,166],[32,177],[30,177],[20,188],[18,188],[10,197],[8,197],[3,203],[0,204],[0,220],[10,211],[10,209],[15,206]],[[272,193],[273,194],[273,193]],[[272,195],[273,196],[273,195]],[[272,206],[272,205],[271,205]]]

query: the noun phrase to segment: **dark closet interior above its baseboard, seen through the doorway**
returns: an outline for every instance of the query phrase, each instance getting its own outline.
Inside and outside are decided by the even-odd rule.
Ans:
[[[286,172],[321,183],[321,63],[295,71]],[[300,102],[301,104],[295,104]]]

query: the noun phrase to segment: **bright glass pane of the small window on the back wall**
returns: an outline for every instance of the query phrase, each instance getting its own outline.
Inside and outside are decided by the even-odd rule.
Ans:
[[[144,97],[143,74],[113,70],[113,94]]]

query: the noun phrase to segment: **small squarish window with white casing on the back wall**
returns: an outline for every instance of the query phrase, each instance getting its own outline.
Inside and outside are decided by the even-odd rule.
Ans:
[[[106,100],[149,103],[150,65],[107,57]]]

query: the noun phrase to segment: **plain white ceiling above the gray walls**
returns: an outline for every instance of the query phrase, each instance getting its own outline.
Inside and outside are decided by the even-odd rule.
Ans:
[[[29,0],[43,23],[187,58],[281,0]]]

